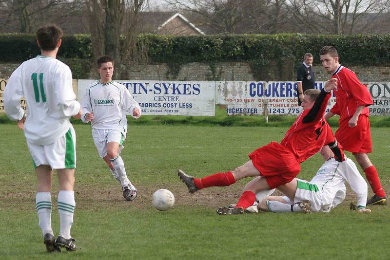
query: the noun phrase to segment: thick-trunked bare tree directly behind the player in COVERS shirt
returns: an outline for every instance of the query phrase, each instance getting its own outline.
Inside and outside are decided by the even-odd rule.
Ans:
[[[147,0],[85,0],[94,57],[109,55],[120,78],[123,63],[136,55],[139,12]]]

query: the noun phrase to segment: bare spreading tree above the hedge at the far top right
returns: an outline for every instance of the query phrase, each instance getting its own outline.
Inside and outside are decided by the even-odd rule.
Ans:
[[[353,34],[361,19],[369,28],[389,8],[389,0],[289,0],[295,25],[305,33]]]

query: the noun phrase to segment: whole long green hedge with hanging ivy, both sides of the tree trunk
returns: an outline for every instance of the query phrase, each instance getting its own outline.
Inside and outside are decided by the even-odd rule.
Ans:
[[[254,76],[269,64],[291,61],[294,67],[302,62],[306,52],[319,63],[319,50],[334,45],[340,60],[347,66],[387,66],[390,64],[389,35],[215,35],[215,36],[157,36],[139,35],[145,42],[152,62],[167,63],[171,74],[177,74],[181,64],[204,62],[211,67],[219,61],[245,61]],[[71,66],[74,78],[88,72],[92,45],[88,35],[65,35],[59,59]],[[30,34],[0,34],[0,62],[22,62],[39,53],[36,38]],[[256,74],[257,73],[257,74]]]

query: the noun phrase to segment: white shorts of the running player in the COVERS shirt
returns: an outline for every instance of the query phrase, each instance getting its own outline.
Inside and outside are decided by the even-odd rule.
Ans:
[[[92,138],[94,138],[96,149],[98,149],[98,153],[101,158],[107,155],[107,143],[109,142],[116,142],[119,144],[118,154],[124,148],[122,143],[125,138],[118,130],[93,128]]]

